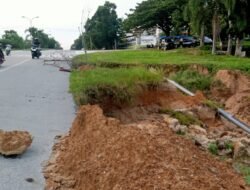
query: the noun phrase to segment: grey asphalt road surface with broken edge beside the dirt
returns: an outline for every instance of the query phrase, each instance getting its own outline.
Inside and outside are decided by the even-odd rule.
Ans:
[[[67,132],[75,117],[69,73],[43,64],[44,58],[62,54],[45,51],[39,60],[32,60],[29,51],[13,51],[0,67],[0,129],[26,130],[33,136],[23,155],[0,155],[0,190],[44,189],[41,171],[54,137]]]

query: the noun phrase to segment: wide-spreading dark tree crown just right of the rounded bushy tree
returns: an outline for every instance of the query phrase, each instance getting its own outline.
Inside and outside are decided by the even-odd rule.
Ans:
[[[166,35],[178,32],[187,25],[183,9],[187,0],[147,0],[137,4],[135,10],[124,21],[126,29],[160,28]]]

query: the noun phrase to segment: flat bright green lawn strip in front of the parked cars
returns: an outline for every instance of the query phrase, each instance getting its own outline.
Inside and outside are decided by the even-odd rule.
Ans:
[[[84,55],[76,56],[73,65],[84,62]],[[90,64],[202,64],[210,71],[218,69],[238,69],[250,73],[250,59],[227,55],[211,55],[208,51],[184,48],[171,51],[123,50],[88,54]]]

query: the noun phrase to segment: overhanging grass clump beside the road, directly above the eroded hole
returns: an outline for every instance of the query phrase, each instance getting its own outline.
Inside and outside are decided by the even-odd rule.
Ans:
[[[137,68],[96,68],[74,71],[70,76],[70,91],[77,104],[100,103],[112,100],[128,103],[142,88],[158,85],[163,73]]]

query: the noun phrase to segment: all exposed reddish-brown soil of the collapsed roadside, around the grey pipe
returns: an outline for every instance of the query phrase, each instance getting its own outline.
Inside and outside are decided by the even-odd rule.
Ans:
[[[250,80],[231,71],[218,72],[216,79],[221,82],[212,87],[211,97],[249,124]],[[232,156],[249,161],[245,157],[249,147],[243,146],[243,142],[250,143],[249,137],[216,117],[204,107],[204,100],[202,92],[189,97],[163,84],[144,91],[123,108],[108,101],[104,114],[97,105],[82,106],[44,168],[46,189],[250,189],[232,168]],[[187,138],[178,136],[173,131],[176,124],[171,127],[169,122],[176,121],[159,114],[160,109],[191,113],[206,128],[178,125],[186,129]],[[236,143],[234,153],[223,148],[229,141]],[[230,159],[223,162],[204,151],[209,142],[218,143],[220,153]]]

